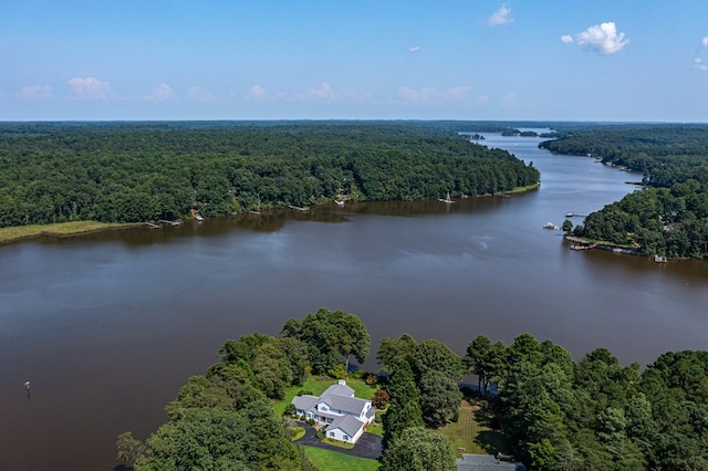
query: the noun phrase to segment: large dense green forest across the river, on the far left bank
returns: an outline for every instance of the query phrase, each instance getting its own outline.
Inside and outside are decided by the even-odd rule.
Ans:
[[[446,122],[0,124],[0,227],[473,197],[539,179]]]

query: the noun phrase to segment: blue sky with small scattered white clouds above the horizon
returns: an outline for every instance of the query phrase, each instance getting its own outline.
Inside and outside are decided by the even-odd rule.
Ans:
[[[708,122],[707,0],[0,0],[0,121]]]

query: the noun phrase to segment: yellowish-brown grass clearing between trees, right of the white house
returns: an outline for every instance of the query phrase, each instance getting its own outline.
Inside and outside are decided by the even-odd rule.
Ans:
[[[483,425],[483,410],[476,404],[462,400],[457,422],[450,422],[437,430],[450,440],[452,450],[458,457],[462,449],[465,453],[496,454],[498,451],[507,453],[507,444],[500,432]],[[482,419],[482,420],[480,420]]]

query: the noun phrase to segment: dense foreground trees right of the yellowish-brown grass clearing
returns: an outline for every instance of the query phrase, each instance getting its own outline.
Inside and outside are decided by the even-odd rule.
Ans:
[[[708,469],[708,352],[669,352],[641,371],[605,348],[573,362],[523,334],[509,346],[478,336],[465,360],[498,383],[499,425],[531,469]]]

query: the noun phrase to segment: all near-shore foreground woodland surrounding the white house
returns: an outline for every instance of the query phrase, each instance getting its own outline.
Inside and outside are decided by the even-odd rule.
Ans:
[[[356,315],[326,308],[288,321],[279,336],[228,341],[145,442],[118,437],[118,459],[136,470],[316,470],[290,441],[288,409],[279,417],[271,404],[309,376],[329,375],[377,388],[382,471],[455,469],[456,450],[437,429],[457,420],[464,395],[490,415],[504,454],[532,470],[708,469],[708,352],[667,352],[642,369],[605,348],[576,362],[530,334],[510,345],[477,335],[464,355],[404,334],[381,339],[379,371],[346,370],[369,344]],[[460,387],[464,375],[476,375],[476,390]]]

